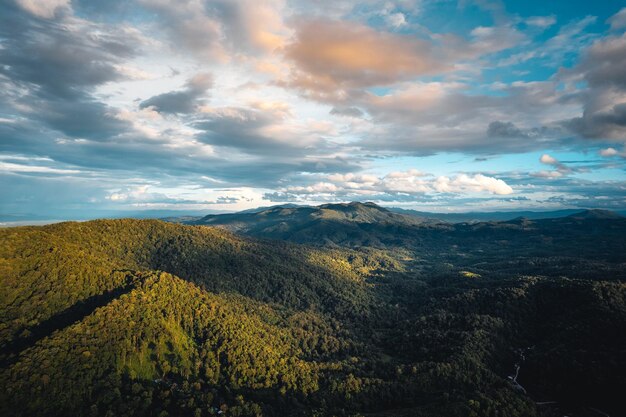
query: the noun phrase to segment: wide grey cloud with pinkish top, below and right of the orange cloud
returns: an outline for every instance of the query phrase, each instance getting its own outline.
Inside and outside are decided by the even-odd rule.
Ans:
[[[562,100],[556,83],[513,82],[497,93],[477,94],[460,82],[407,82],[384,95],[366,94],[353,100],[371,116],[360,144],[414,154],[498,154],[574,140],[561,120],[579,114],[580,104]]]

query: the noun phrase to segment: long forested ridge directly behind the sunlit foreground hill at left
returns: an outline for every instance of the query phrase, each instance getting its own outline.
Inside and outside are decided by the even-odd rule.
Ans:
[[[1,233],[3,340],[146,270],[170,272],[211,292],[354,312],[367,304],[363,276],[386,260],[156,220],[59,223]]]

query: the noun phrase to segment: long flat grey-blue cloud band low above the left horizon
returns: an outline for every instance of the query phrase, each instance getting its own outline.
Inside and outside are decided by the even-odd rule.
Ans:
[[[0,152],[47,157],[73,169],[107,172],[111,178],[143,177],[201,183],[210,177],[232,186],[275,187],[300,172],[334,173],[361,169],[358,159],[338,156],[285,154],[257,157],[233,152],[200,152],[197,143],[181,141],[169,132],[159,141],[141,136],[120,136],[107,141],[50,140],[54,133],[28,123],[0,123]],[[191,155],[191,156],[190,156]],[[79,176],[81,174],[78,174]],[[210,185],[215,186],[215,183]]]

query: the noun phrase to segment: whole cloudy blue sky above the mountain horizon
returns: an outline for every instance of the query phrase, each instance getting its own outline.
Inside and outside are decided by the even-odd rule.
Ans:
[[[623,0],[0,0],[0,220],[626,207]]]

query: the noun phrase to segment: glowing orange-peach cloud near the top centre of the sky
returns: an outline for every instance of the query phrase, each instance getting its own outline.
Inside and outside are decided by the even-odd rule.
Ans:
[[[357,22],[297,22],[285,55],[296,64],[291,85],[331,92],[388,85],[446,69],[432,45],[413,36],[377,31]]]

